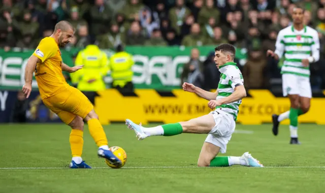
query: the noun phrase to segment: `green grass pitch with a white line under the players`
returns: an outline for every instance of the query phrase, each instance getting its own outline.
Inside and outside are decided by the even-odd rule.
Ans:
[[[266,168],[197,168],[206,135],[138,141],[125,125],[112,124],[105,126],[109,145],[124,148],[128,157],[123,168],[110,169],[96,156],[85,126],[83,159],[95,169],[73,170],[68,126],[2,124],[0,192],[325,192],[323,126],[301,125],[301,145],[288,144],[288,126],[278,137],[270,127],[237,125],[224,154],[249,151]]]

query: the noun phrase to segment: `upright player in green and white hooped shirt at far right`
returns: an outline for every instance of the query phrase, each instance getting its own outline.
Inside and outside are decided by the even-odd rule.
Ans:
[[[273,134],[278,135],[280,121],[290,119],[290,144],[300,144],[298,140],[298,116],[308,112],[312,97],[309,81],[309,63],[319,60],[319,38],[315,29],[305,26],[304,10],[293,10],[293,25],[280,30],[275,51],[267,55],[280,59],[284,54],[281,68],[283,96],[290,99],[290,110],[280,115],[272,115]]]

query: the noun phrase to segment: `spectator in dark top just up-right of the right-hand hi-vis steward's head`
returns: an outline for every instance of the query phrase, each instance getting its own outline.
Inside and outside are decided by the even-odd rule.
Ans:
[[[141,29],[138,21],[134,21],[131,24],[131,28],[128,30],[126,45],[141,46],[146,41],[145,33]]]

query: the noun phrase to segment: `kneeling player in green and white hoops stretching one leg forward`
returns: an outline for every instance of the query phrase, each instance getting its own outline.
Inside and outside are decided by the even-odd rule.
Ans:
[[[226,146],[235,131],[235,121],[241,99],[246,97],[242,74],[234,63],[235,52],[235,47],[230,44],[221,44],[215,48],[214,61],[221,72],[216,92],[205,91],[186,82],[183,84],[183,90],[194,92],[208,100],[208,106],[213,109],[212,112],[189,121],[150,128],[135,124],[129,119],[126,119],[126,125],[135,131],[139,140],[149,136],[174,136],[182,133],[208,134],[199,156],[199,167],[232,165],[263,167],[248,152],[238,157],[217,156],[219,152],[225,153],[226,151]]]

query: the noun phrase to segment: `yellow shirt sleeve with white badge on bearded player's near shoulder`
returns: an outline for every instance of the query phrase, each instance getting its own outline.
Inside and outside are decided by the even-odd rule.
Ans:
[[[44,62],[48,58],[55,56],[57,49],[58,47],[55,42],[43,39],[32,55],[38,57],[42,62]]]

